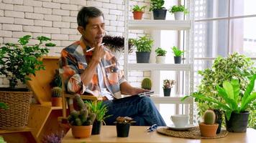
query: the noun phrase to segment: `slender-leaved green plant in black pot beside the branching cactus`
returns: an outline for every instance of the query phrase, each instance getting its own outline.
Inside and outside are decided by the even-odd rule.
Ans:
[[[96,114],[96,119],[93,122],[93,129],[91,134],[100,134],[101,133],[101,123],[104,122],[104,119],[110,117],[111,115],[106,116],[106,112],[108,109],[102,101],[99,102],[85,102],[88,105],[88,108],[91,110],[92,113]],[[104,122],[105,124],[105,122]]]

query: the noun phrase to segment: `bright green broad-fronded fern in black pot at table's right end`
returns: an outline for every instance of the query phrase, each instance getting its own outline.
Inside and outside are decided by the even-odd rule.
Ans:
[[[225,81],[222,87],[216,85],[219,97],[206,97],[203,94],[193,94],[197,100],[211,102],[216,109],[221,109],[225,113],[226,127],[229,132],[246,132],[250,107],[255,106],[256,92],[253,92],[255,86],[256,74],[253,75],[244,92],[240,90],[239,79],[232,79],[231,82]]]

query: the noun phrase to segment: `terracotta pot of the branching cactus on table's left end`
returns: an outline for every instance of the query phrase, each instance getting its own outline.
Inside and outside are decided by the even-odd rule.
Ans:
[[[72,135],[75,138],[87,138],[91,136],[91,129],[93,125],[89,126],[72,126]]]

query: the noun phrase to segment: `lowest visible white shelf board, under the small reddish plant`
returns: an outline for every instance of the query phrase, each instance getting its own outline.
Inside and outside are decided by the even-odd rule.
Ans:
[[[183,97],[150,97],[155,104],[193,104],[193,98],[188,97],[183,102],[180,101]]]

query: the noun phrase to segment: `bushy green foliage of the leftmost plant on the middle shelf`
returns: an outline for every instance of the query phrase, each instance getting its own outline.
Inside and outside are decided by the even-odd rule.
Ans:
[[[132,39],[132,44],[137,47],[137,51],[150,52],[152,49],[153,40],[147,36],[140,36],[140,39]]]

